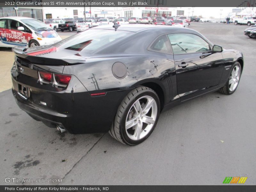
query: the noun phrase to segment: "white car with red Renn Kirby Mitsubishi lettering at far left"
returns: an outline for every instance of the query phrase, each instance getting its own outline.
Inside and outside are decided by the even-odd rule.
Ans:
[[[62,40],[45,23],[29,17],[1,17],[0,31],[0,47],[36,47]]]

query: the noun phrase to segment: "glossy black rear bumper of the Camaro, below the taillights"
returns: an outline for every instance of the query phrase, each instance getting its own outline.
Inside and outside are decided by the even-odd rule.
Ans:
[[[12,69],[11,74],[12,93],[22,110],[49,127],[60,125],[74,134],[107,132],[119,104],[130,91],[101,90],[107,92],[105,96],[91,97],[76,76],[71,77],[67,88],[58,89],[50,84],[41,85],[37,79],[20,74],[16,69]],[[19,84],[29,89],[28,100],[18,94]]]

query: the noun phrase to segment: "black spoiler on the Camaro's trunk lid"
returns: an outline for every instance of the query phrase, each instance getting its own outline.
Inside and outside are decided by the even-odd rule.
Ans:
[[[47,47],[47,46],[45,46]],[[55,58],[47,58],[40,57],[36,55],[29,55],[24,53],[28,47],[13,47],[12,51],[19,58],[23,58],[31,63],[39,64],[39,65],[76,65],[84,63],[85,60],[76,60],[76,59],[55,59]]]

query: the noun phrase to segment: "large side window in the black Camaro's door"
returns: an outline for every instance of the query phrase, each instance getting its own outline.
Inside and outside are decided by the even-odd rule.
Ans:
[[[210,51],[209,44],[201,37],[189,33],[167,35],[174,54]]]

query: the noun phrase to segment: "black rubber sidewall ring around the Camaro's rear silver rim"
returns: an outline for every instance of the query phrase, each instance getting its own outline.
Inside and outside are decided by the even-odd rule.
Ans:
[[[127,114],[130,110],[130,108],[132,107],[132,105],[134,104],[134,102],[136,100],[138,100],[140,97],[143,97],[143,96],[150,96],[152,98],[154,98],[154,100],[156,101],[156,105],[157,105],[157,116],[156,116],[156,121],[155,121],[155,124],[154,126],[152,127],[152,129],[150,130],[150,132],[142,139],[140,140],[131,140],[127,133],[126,133],[126,130],[125,130],[125,122],[126,122],[126,117],[127,117]],[[149,91],[149,90],[143,90],[143,92],[141,92],[140,94],[138,94],[137,96],[133,97],[130,102],[128,103],[128,105],[126,105],[125,107],[125,112],[123,114],[123,116],[121,116],[121,124],[120,124],[120,130],[121,130],[121,135],[123,136],[125,142],[128,144],[128,145],[137,145],[141,142],[143,142],[144,140],[146,140],[149,135],[153,132],[153,130],[155,129],[156,127],[156,124],[157,124],[157,121],[158,121],[158,117],[159,117],[159,114],[160,114],[160,101],[159,101],[159,98],[158,96],[156,95],[155,92],[152,92],[152,91]]]

